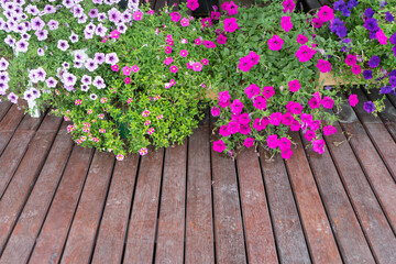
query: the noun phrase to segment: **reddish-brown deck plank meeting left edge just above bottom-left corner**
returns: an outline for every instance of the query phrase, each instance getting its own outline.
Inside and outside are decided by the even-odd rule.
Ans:
[[[0,226],[0,251],[3,250],[10,229],[28,199],[40,169],[43,167],[55,134],[55,132],[41,131],[36,133],[0,201],[2,219],[0,221],[2,223]]]

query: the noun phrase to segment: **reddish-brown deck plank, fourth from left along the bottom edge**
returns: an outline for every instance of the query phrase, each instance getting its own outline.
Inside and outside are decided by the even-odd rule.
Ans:
[[[121,263],[139,164],[138,155],[116,163],[92,263]]]

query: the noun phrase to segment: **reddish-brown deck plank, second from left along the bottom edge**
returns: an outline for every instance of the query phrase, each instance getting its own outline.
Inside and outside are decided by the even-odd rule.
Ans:
[[[58,263],[92,157],[74,147],[29,263]]]

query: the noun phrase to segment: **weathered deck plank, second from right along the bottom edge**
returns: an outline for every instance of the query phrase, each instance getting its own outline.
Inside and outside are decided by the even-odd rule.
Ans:
[[[301,145],[301,141],[298,140],[297,144]],[[304,145],[309,145],[306,140]],[[327,147],[319,155],[308,146],[307,157],[344,263],[375,263]]]

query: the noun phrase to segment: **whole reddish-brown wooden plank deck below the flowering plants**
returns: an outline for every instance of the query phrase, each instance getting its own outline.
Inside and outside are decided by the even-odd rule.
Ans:
[[[74,145],[59,118],[1,102],[0,263],[395,264],[389,100],[380,118],[345,107],[321,156],[293,134],[287,162],[223,157],[209,121],[184,145],[116,162]]]

